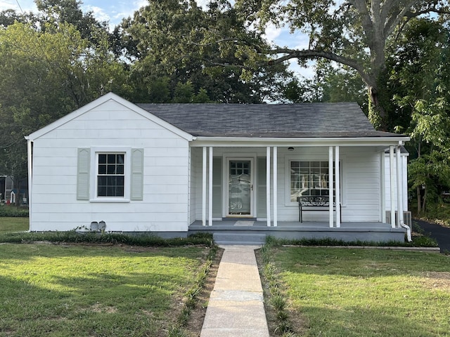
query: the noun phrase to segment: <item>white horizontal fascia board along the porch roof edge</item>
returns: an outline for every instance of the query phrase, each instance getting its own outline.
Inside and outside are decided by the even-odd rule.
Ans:
[[[410,138],[363,137],[363,138],[233,138],[196,137],[191,147],[266,147],[266,146],[390,146],[404,145]]]

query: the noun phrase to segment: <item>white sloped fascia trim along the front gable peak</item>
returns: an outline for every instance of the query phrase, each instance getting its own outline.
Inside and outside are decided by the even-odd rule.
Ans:
[[[53,121],[53,123],[44,126],[44,128],[40,128],[37,131],[34,131],[34,133],[31,133],[29,136],[25,136],[25,139],[27,140],[35,140],[41,136],[44,136],[46,133],[49,133],[56,128],[68,123],[69,121],[72,121],[73,119],[76,119],[77,117],[81,116],[82,114],[85,114],[86,112],[89,112],[90,110],[93,110],[94,108],[98,107],[99,105],[102,105],[103,103],[108,102],[108,100],[113,100],[116,103],[123,105],[129,110],[132,110],[136,112],[137,114],[140,114],[142,117],[145,117],[146,119],[149,119],[150,121],[153,121],[155,124],[158,124],[162,126],[163,128],[166,128],[169,131],[172,131],[176,135],[180,136],[181,138],[184,138],[188,141],[193,140],[193,136],[189,133],[186,133],[185,131],[182,131],[179,128],[176,128],[172,124],[167,123],[167,121],[163,121],[159,117],[156,117],[154,114],[151,114],[150,112],[143,110],[141,107],[138,107],[137,105],[129,102],[128,100],[125,100],[124,98],[121,98],[120,96],[116,95],[115,93],[107,93],[96,100],[93,100],[91,103],[88,103],[79,109],[70,112],[69,114],[66,114],[64,117],[61,117],[60,119]]]

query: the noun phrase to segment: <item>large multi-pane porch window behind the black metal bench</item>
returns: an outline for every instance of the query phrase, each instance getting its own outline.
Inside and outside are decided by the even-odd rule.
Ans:
[[[290,161],[290,201],[301,196],[328,196],[329,182],[328,161]]]

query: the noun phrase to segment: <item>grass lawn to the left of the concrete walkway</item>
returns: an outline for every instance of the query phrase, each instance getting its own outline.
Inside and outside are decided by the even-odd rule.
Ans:
[[[0,244],[0,336],[167,336],[208,251]]]

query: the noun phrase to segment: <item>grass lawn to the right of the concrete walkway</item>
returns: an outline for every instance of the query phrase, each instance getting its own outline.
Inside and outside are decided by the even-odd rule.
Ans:
[[[301,336],[450,336],[450,258],[377,249],[269,248]]]

